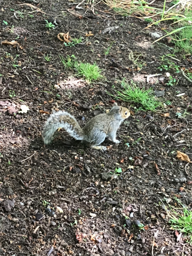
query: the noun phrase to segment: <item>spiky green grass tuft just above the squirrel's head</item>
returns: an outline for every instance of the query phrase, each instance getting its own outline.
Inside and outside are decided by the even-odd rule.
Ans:
[[[109,95],[115,97],[116,99],[121,99],[126,102],[139,103],[141,107],[139,110],[151,110],[155,111],[157,107],[161,106],[161,103],[156,100],[153,95],[152,89],[140,89],[136,84],[131,81],[131,84],[128,84],[125,79],[121,82],[121,89],[114,89],[116,95]]]

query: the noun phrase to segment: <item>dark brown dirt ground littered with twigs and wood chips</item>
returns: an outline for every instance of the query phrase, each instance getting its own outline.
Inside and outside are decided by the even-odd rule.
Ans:
[[[191,255],[187,238],[178,239],[171,229],[163,203],[177,207],[179,198],[191,208],[192,167],[176,155],[179,150],[192,158],[192,89],[180,74],[171,74],[177,85],[166,85],[165,70],[157,69],[173,47],[166,39],[151,44],[149,33],[161,27],[142,30],[146,21],[116,15],[102,2],[94,14],[90,5],[75,10],[71,1],[0,4],[1,42],[18,42],[0,49],[0,255]],[[44,20],[52,18],[58,25],[49,30]],[[57,35],[68,31],[72,38],[83,37],[82,43],[63,45]],[[93,35],[85,36],[89,31]],[[105,79],[76,81],[75,71],[59,58],[72,54],[97,63]],[[191,66],[190,56],[180,53],[177,59],[176,65]],[[156,73],[163,75],[146,83]],[[111,147],[104,153],[62,130],[44,146],[42,128],[52,110],[69,111],[83,126],[113,105],[106,91],[113,92],[123,78],[163,92],[158,99],[170,104],[150,113],[119,102],[131,117],[117,132],[121,143],[105,141]],[[27,113],[19,112],[21,105]],[[116,175],[116,168],[122,173]]]

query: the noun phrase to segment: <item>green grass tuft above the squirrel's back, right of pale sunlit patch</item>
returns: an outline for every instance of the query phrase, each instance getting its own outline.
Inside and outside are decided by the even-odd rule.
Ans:
[[[93,65],[90,63],[78,63],[76,66],[77,69],[77,76],[85,77],[85,79],[89,82],[93,80],[98,80],[103,78],[101,75],[101,69],[94,63]]]

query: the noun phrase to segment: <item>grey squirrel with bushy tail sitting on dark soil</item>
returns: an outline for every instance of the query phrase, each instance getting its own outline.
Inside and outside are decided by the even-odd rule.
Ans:
[[[94,116],[82,129],[74,116],[66,111],[59,110],[51,114],[47,119],[43,129],[43,140],[45,144],[49,144],[52,141],[54,132],[64,128],[71,137],[76,140],[82,140],[86,146],[105,151],[107,147],[99,145],[107,137],[114,143],[119,143],[120,141],[116,140],[116,131],[129,116],[129,109],[117,106],[115,102],[108,113]]]

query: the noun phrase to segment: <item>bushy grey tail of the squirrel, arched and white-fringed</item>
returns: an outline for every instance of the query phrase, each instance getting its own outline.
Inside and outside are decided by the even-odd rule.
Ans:
[[[43,140],[45,144],[49,144],[52,141],[53,134],[59,128],[64,128],[76,140],[83,140],[84,138],[84,132],[75,117],[60,110],[51,114],[45,123],[43,129]]]

